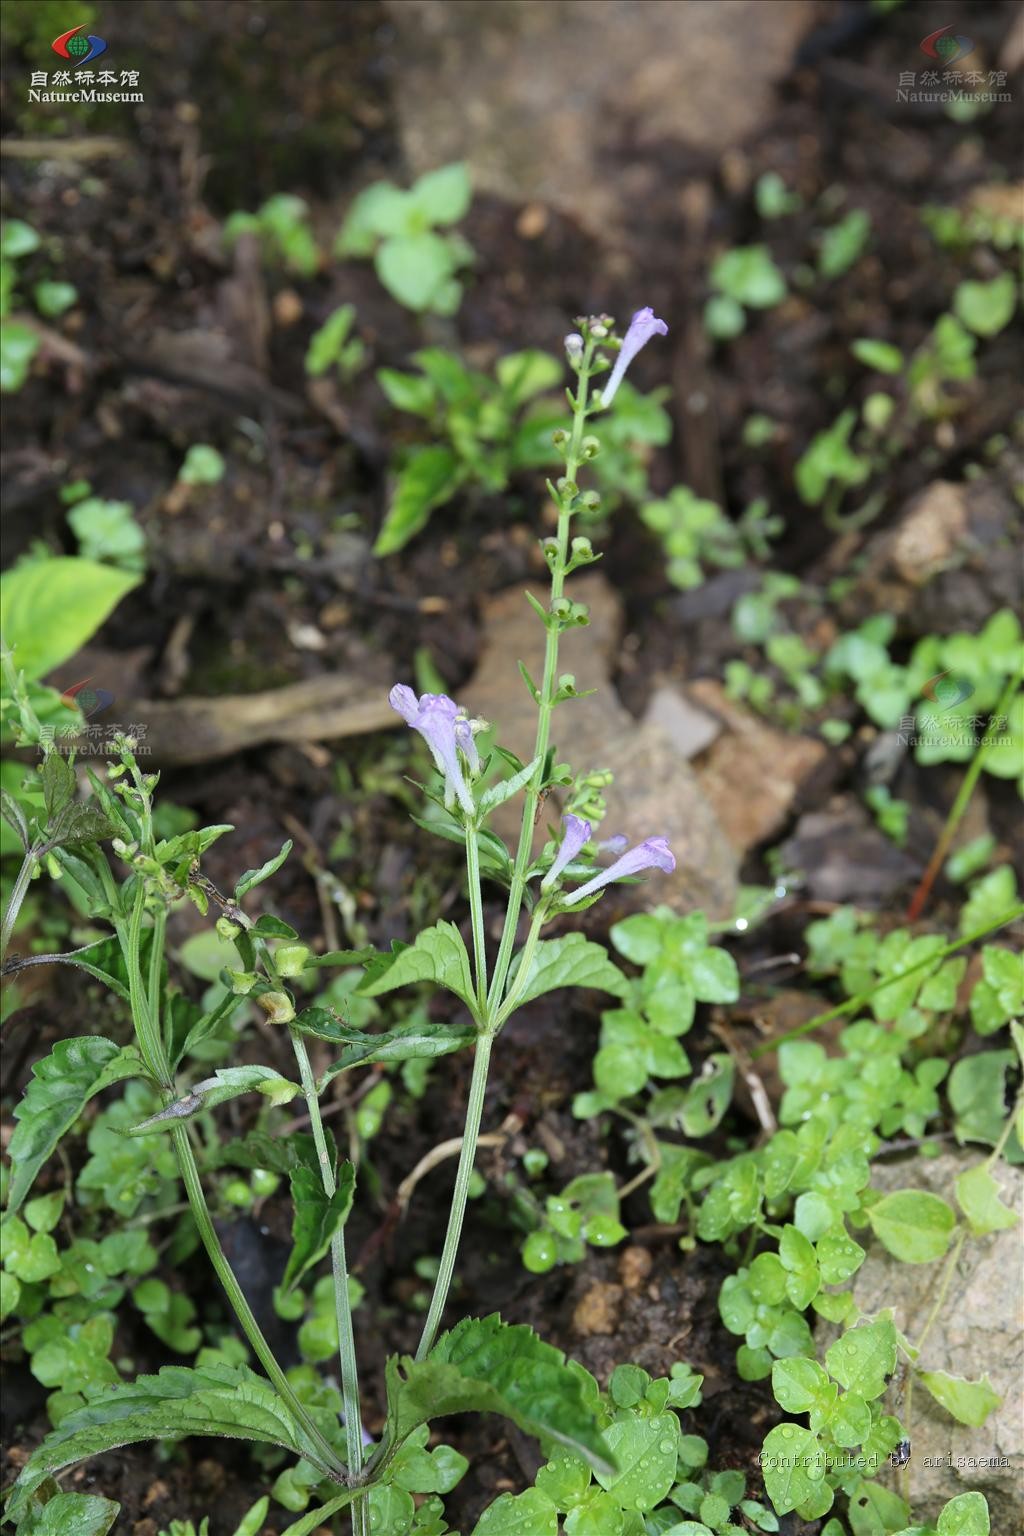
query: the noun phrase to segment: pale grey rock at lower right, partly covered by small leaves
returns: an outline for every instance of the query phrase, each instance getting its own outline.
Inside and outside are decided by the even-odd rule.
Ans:
[[[956,1177],[984,1160],[979,1150],[947,1152],[913,1163],[877,1163],[872,1187],[926,1189],[950,1204]],[[996,1178],[1006,1204],[1021,1210],[1024,1169],[1001,1163]],[[863,1235],[858,1233],[861,1243]],[[989,1375],[1003,1398],[981,1428],[958,1424],[917,1382],[912,1396],[910,1507],[917,1521],[933,1521],[947,1499],[978,1488],[989,1501],[993,1531],[1021,1530],[1024,1478],[1024,1335],[1021,1303],[1021,1227],[969,1236],[949,1292],[921,1350],[924,1370],[946,1370],[976,1381]],[[864,1312],[892,1307],[897,1327],[920,1338],[935,1306],[943,1260],[901,1264],[872,1240],[857,1272],[854,1296]],[[898,1413],[898,1405],[894,1407]],[[1004,1461],[1006,1465],[998,1465]],[[936,1462],[936,1465],[929,1465]],[[973,1462],[973,1464],[972,1464]],[[895,1485],[895,1473],[883,1481]]]

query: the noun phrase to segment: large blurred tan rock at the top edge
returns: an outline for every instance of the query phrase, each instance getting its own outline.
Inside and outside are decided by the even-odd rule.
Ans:
[[[628,229],[665,140],[720,152],[765,120],[814,25],[801,0],[388,0],[395,101],[416,172]],[[620,143],[622,141],[622,143]],[[614,172],[609,167],[614,166]]]

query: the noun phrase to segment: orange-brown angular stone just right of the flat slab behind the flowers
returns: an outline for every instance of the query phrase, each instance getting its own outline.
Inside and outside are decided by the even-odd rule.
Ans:
[[[725,727],[697,763],[697,782],[735,852],[746,854],[783,829],[804,783],[826,763],[827,746],[772,730],[711,677],[697,679],[688,693]]]

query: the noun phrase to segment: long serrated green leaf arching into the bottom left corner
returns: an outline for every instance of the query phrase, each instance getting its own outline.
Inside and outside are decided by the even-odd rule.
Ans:
[[[18,1519],[46,1478],[86,1456],[100,1456],[138,1441],[181,1439],[184,1435],[224,1435],[279,1445],[327,1471],[319,1453],[299,1435],[278,1393],[252,1370],[244,1366],[206,1366],[198,1370],[164,1366],[155,1376],[138,1376],[123,1387],[104,1387],[83,1409],[61,1419],[21,1468],[6,1513]]]

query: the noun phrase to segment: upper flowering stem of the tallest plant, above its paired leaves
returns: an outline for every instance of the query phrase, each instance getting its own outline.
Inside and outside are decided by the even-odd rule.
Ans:
[[[586,393],[590,389],[590,364],[594,352],[594,344],[588,341],[583,359],[580,362],[579,384],[576,389],[576,396],[573,399],[573,435],[570,438],[568,453],[565,456],[565,478],[570,482],[576,481],[576,473],[580,462],[580,444],[583,438],[583,424],[586,421]],[[559,502],[559,527],[557,527],[557,550],[551,565],[551,601],[550,608],[562,596],[565,587],[565,567],[568,564],[568,548],[570,548],[570,522],[571,522],[571,496],[563,495]],[[543,647],[543,680],[540,684],[540,699],[537,700],[537,736],[533,748],[533,756],[537,759],[537,768],[533,776],[531,783],[527,786],[527,794],[522,808],[522,828],[519,831],[519,846],[516,848],[516,862],[513,866],[511,885],[508,889],[508,909],[505,912],[505,926],[502,929],[502,938],[497,949],[497,960],[494,962],[494,974],[491,977],[491,986],[488,992],[488,1008],[493,1011],[502,998],[505,988],[505,980],[508,977],[508,966],[511,965],[513,946],[516,943],[516,929],[519,926],[519,912],[522,908],[524,892],[527,889],[527,868],[530,865],[530,849],[533,846],[533,829],[537,819],[537,806],[540,803],[540,788],[543,783],[543,760],[548,754],[548,740],[551,736],[551,711],[554,708],[554,693],[556,679],[559,667],[559,628],[551,616],[548,624],[547,641]]]

